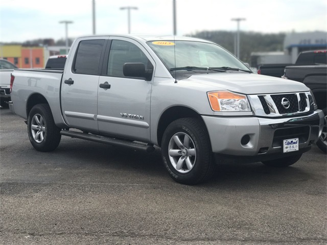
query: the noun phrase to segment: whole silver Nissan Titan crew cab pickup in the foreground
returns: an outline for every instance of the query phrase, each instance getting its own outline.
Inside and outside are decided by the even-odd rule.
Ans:
[[[219,45],[173,36],[77,38],[64,70],[14,70],[12,112],[37,151],[61,135],[151,152],[177,182],[216,163],[289,166],[311,149],[323,113],[301,83],[253,74]]]

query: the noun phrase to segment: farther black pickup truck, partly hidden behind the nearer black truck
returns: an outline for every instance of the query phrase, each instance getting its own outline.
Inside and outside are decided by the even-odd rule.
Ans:
[[[286,66],[327,64],[325,50],[301,52],[295,64],[266,64],[259,66],[258,74],[280,78],[284,75]]]

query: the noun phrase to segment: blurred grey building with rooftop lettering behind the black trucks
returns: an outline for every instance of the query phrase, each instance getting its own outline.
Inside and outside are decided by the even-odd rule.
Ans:
[[[264,64],[294,64],[303,51],[326,50],[326,32],[288,33],[284,39],[283,52],[252,52],[251,66]]]

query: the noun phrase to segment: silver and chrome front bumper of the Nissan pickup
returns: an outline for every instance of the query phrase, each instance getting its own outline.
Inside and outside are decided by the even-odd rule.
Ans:
[[[287,118],[254,116],[202,116],[202,118],[209,133],[213,153],[230,156],[280,157],[284,155],[283,140],[292,138],[299,138],[298,153],[302,153],[309,150],[318,140],[323,127],[321,110],[315,110],[306,116]],[[244,141],[245,135],[248,135],[245,137],[248,142]]]

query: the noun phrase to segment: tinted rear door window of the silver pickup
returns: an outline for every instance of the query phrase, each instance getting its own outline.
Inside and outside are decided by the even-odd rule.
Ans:
[[[74,72],[78,74],[99,75],[99,64],[105,40],[85,40],[78,46]]]

